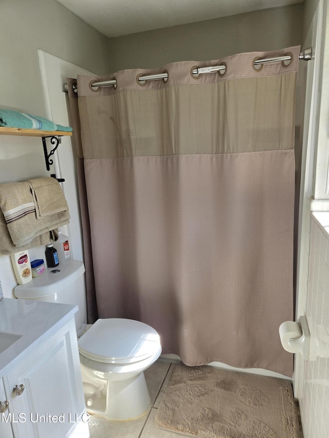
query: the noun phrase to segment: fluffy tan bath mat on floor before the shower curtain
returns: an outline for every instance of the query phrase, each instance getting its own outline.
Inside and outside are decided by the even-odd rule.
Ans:
[[[198,438],[301,438],[287,380],[178,365],[155,424]]]

